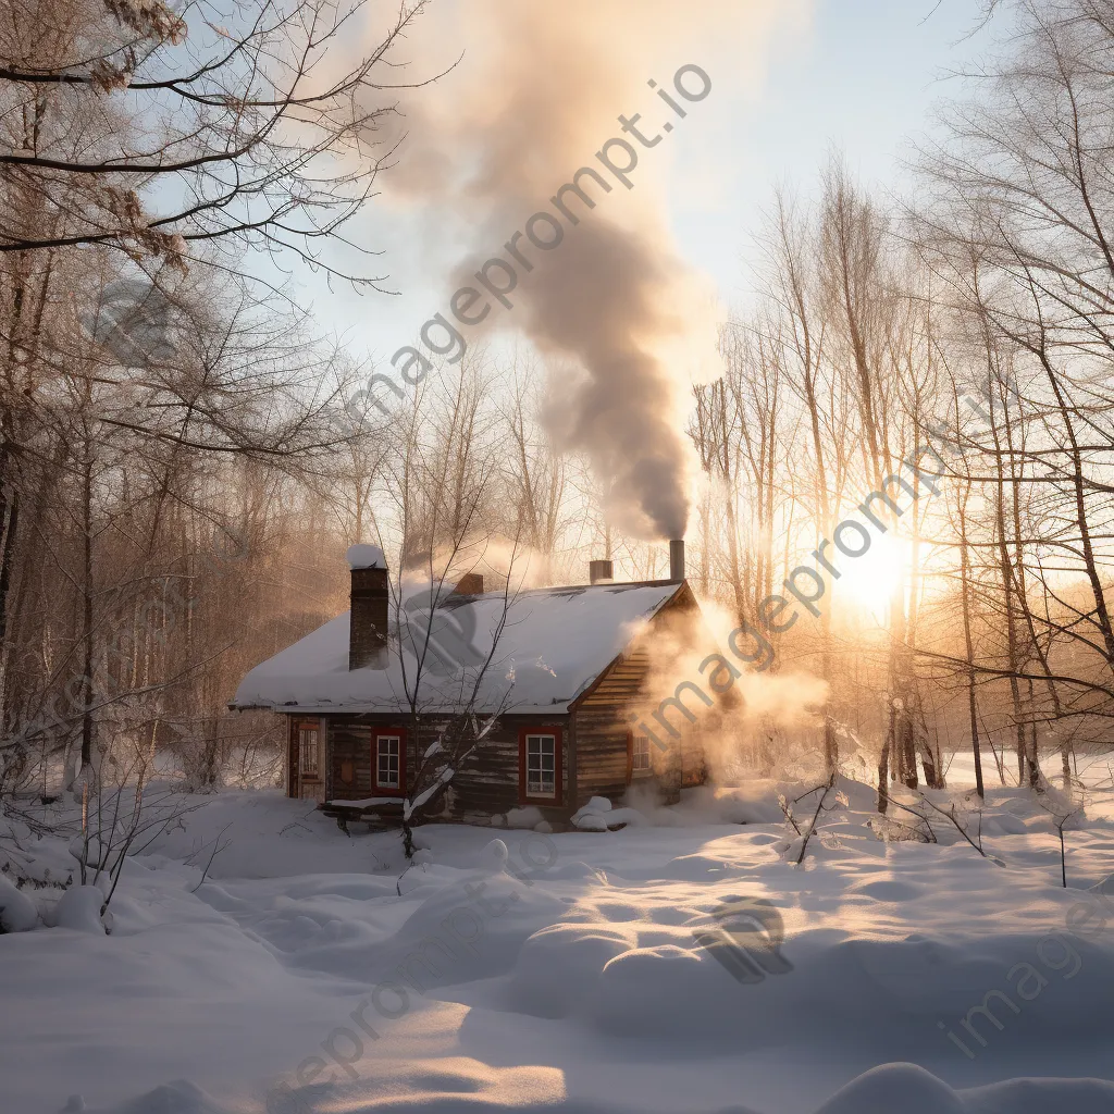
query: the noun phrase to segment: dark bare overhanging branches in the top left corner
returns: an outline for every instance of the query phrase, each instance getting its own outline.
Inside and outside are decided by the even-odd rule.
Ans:
[[[0,115],[11,127],[0,182],[36,202],[6,207],[0,252],[101,244],[185,262],[223,242],[381,283],[321,247],[336,240],[369,254],[344,225],[389,155],[378,150],[393,111],[382,97],[400,87],[393,56],[423,8],[404,3],[371,49],[343,61],[352,33],[368,32],[360,2],[11,9],[0,30]],[[156,185],[153,206],[143,193]],[[43,207],[53,219],[30,219]]]

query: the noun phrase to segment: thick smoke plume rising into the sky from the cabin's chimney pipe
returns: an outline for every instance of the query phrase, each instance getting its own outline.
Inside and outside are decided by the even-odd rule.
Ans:
[[[460,286],[476,287],[488,258],[514,262],[505,245],[531,214],[554,217],[556,228],[535,227],[558,243],[521,240],[527,264],[515,264],[512,292],[491,299],[481,328],[520,330],[545,354],[558,377],[554,432],[587,456],[612,521],[637,537],[684,535],[684,416],[692,383],[719,373],[714,295],[678,258],[665,219],[671,139],[675,148],[719,90],[726,98],[735,75],[759,71],[786,9],[798,13],[778,0],[467,0],[439,4],[423,26],[446,60],[463,57],[402,101],[407,138],[388,188],[422,207],[427,240],[451,238]],[[706,100],[677,92],[674,74],[686,65],[707,72]],[[698,76],[685,80],[701,92]],[[636,113],[647,139],[662,137],[651,147],[617,123]],[[636,152],[629,174],[597,158],[613,137]],[[619,167],[629,158],[619,145],[607,154]],[[599,178],[579,179],[590,206],[565,195],[570,219],[551,198],[580,167]],[[488,276],[510,285],[498,267]]]

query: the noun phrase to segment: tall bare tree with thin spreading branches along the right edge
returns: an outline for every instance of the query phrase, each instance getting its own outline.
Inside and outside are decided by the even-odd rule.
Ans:
[[[920,235],[983,353],[969,477],[996,507],[1006,652],[978,668],[1008,682],[1019,773],[1039,788],[1038,727],[1058,731],[1069,780],[1071,724],[1106,717],[1112,694],[1114,29],[1094,0],[998,7],[1016,35],[924,154]]]

